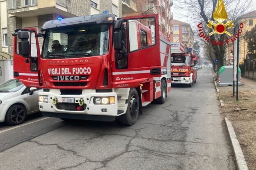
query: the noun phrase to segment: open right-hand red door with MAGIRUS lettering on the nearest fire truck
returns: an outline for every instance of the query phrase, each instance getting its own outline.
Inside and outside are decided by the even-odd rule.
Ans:
[[[124,25],[126,34],[122,36],[125,37],[123,49],[116,51],[115,55],[113,87],[136,87],[147,78],[161,76],[158,15],[134,18],[124,18],[127,20]],[[117,59],[117,55],[126,57]]]

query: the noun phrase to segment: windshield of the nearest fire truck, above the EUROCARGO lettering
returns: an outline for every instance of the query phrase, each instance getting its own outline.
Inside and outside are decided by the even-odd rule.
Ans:
[[[108,46],[108,25],[49,29],[42,58],[99,56],[107,54]]]

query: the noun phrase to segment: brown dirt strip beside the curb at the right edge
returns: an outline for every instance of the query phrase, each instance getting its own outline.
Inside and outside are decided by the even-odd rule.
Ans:
[[[238,102],[232,86],[218,86],[218,96],[224,103],[220,111],[233,125],[249,170],[256,170],[256,81],[242,77],[242,84]]]

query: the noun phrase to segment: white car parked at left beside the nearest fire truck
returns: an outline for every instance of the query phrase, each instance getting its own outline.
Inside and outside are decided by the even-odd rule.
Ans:
[[[36,87],[25,87],[18,79],[0,84],[0,122],[18,125],[28,114],[39,112],[39,91]]]

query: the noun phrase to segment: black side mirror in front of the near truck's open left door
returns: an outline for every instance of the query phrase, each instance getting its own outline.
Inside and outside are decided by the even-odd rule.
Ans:
[[[29,34],[27,31],[20,31],[18,32],[18,38],[21,39],[20,42],[18,42],[18,50],[19,54],[22,55],[25,58],[29,58],[30,56],[30,44],[28,41]]]

